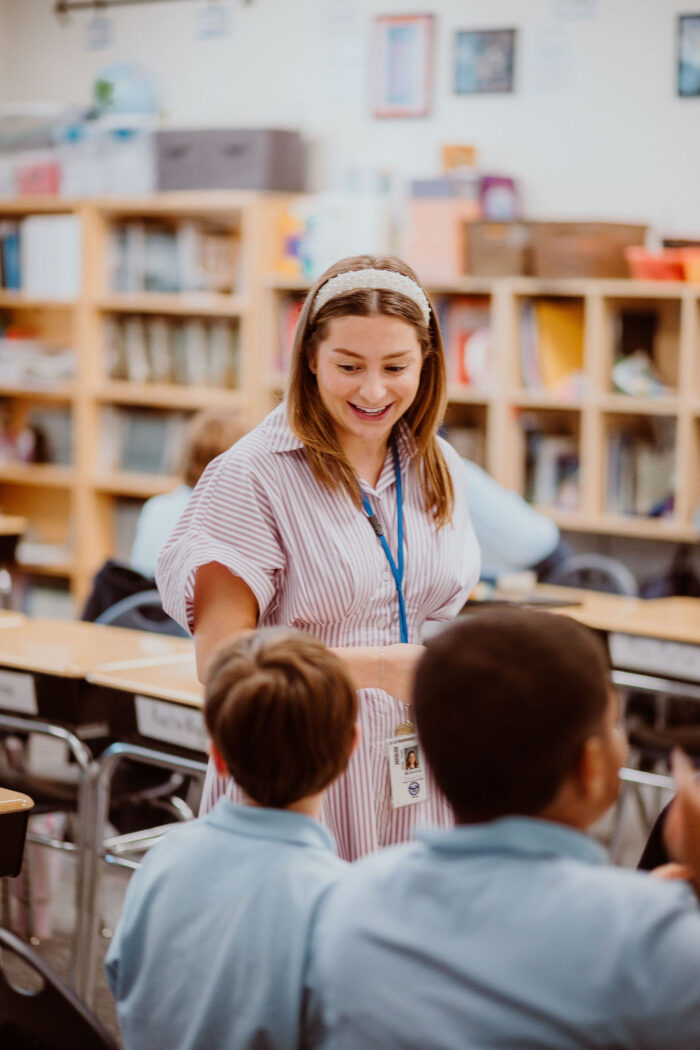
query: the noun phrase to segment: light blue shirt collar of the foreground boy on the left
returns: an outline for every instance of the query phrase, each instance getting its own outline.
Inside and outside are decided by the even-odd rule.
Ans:
[[[331,832],[318,820],[290,810],[269,810],[258,805],[242,805],[220,798],[213,810],[201,818],[215,827],[234,832],[250,839],[275,839],[315,849],[336,853]]]

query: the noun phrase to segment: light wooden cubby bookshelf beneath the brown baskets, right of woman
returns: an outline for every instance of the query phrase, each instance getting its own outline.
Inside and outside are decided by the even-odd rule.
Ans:
[[[700,538],[696,524],[700,521],[700,286],[632,279],[465,277],[452,285],[427,287],[448,356],[447,432],[451,427],[461,432],[464,448],[475,448],[496,480],[532,496],[534,464],[529,458],[533,449],[537,445],[547,448],[556,461],[560,441],[563,490],[554,502],[542,505],[560,528],[663,541]],[[266,385],[272,406],[285,378],[279,368],[285,304],[292,296],[302,296],[309,284],[272,276],[267,288],[268,313],[276,319],[268,330]],[[450,318],[462,312],[464,343],[469,307],[488,318],[490,329],[490,375],[476,385],[459,382],[459,365],[450,359],[459,342],[450,333]],[[537,357],[536,339],[524,368],[524,333],[528,336],[524,315],[531,338],[533,319],[550,337],[549,372],[547,362]],[[556,340],[563,330],[569,341],[559,353]],[[613,364],[622,349],[634,349],[637,336],[646,338],[639,349],[648,350],[653,362],[659,383],[654,396],[621,393],[613,379]],[[576,361],[579,370],[574,369]],[[532,372],[533,362],[538,373]],[[578,375],[567,377],[567,369]],[[641,491],[629,503],[631,512],[622,512],[609,498],[611,440],[618,441],[623,433],[637,437],[643,462],[635,469],[640,477],[646,475]],[[665,460],[655,463],[657,454],[665,455]],[[655,517],[643,511],[645,492],[649,477],[656,471],[658,480],[663,470],[673,504],[669,501],[664,512]]]

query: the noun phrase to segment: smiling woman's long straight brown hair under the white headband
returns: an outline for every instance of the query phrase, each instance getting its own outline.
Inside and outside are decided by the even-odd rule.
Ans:
[[[423,365],[418,393],[402,419],[416,442],[425,511],[441,528],[450,521],[454,490],[436,437],[447,403],[447,384],[440,326],[429,299],[427,326],[417,302],[399,292],[383,289],[343,292],[312,316],[316,295],[327,280],[340,273],[366,269],[403,274],[421,288],[410,267],[391,256],[355,255],[336,262],[319,277],[306,296],[294,337],[287,394],[288,422],[304,444],[316,480],[332,489],[344,488],[360,506],[362,500],[357,475],[338,443],[331,417],[318,396],[316,376],[311,371],[310,362],[319,343],[326,337],[328,323],[334,317],[387,316],[410,324],[421,346]]]

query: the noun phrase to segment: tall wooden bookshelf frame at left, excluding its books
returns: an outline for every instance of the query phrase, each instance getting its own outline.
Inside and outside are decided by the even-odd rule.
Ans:
[[[118,418],[114,414],[152,413],[165,419],[227,405],[242,408],[252,422],[264,414],[269,394],[259,364],[264,279],[275,266],[279,218],[288,206],[289,196],[283,194],[234,191],[124,200],[0,201],[0,222],[21,224],[34,215],[72,215],[79,225],[77,296],[0,289],[0,314],[6,321],[36,333],[42,343],[71,348],[75,353],[70,381],[0,383],[0,404],[16,429],[42,407],[66,410],[72,428],[70,465],[0,462],[0,507],[24,514],[28,521],[30,549],[37,554],[29,555],[23,571],[37,580],[64,579],[77,613],[94,571],[114,551],[116,503],[140,502],[177,484],[171,469],[154,475],[105,462],[105,441],[111,439],[104,432]],[[114,231],[130,226],[148,233],[152,225],[166,233],[172,231],[175,243],[186,225],[190,230],[214,230],[219,245],[230,237],[235,259],[231,287],[226,291],[113,287]],[[143,381],[129,374],[112,375],[108,327],[124,324],[129,318],[139,318],[144,326],[162,321],[171,327],[169,333],[194,322],[204,326],[210,338],[211,326],[230,326],[231,344],[237,344],[238,353],[235,387],[220,381],[189,381],[188,377],[171,382],[162,376]]]

